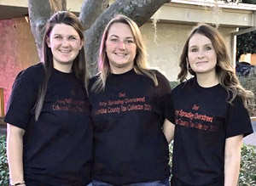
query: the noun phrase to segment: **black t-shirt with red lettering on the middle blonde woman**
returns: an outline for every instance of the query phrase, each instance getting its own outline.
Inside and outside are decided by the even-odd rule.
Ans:
[[[161,127],[171,87],[165,76],[155,73],[157,87],[149,77],[130,70],[110,74],[103,92],[90,92],[93,178],[124,185],[169,177],[168,143]],[[90,87],[95,81],[91,79]]]

